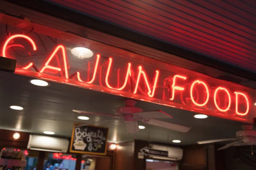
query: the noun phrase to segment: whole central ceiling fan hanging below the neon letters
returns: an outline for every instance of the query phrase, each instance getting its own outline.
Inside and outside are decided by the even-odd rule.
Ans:
[[[124,100],[125,106],[116,108],[116,114],[105,114],[105,113],[92,113],[88,111],[78,111],[73,110],[77,113],[92,114],[92,115],[102,115],[102,116],[112,116],[122,119],[125,123],[126,130],[128,133],[136,133],[140,131],[138,127],[138,122],[141,121],[145,124],[154,125],[158,127],[163,127],[170,130],[175,130],[178,132],[186,133],[191,127],[186,127],[182,125],[176,125],[169,122],[164,122],[157,119],[170,119],[172,116],[163,111],[146,111],[143,112],[141,108],[135,107],[136,101],[131,99]]]

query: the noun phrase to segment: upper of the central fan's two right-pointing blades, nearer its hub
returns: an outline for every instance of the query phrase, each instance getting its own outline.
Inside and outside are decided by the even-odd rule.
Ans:
[[[140,113],[134,113],[136,119],[170,119],[171,115],[163,111],[145,111]]]

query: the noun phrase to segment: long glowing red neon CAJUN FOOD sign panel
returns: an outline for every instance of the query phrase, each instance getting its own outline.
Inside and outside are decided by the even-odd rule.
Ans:
[[[17,74],[242,122],[256,117],[254,89],[23,22],[0,17],[0,54],[17,60]]]

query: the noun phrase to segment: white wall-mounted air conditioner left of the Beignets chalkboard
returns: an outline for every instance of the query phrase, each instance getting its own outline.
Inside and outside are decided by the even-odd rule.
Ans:
[[[66,153],[69,141],[51,136],[30,135],[28,149]]]

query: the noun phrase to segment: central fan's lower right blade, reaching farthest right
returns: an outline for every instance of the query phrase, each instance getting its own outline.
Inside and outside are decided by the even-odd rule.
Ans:
[[[159,126],[159,127],[163,127],[163,128],[170,129],[170,130],[175,130],[178,132],[183,132],[183,133],[186,133],[191,129],[191,127],[177,125],[177,124],[169,123],[169,122],[163,122],[163,121],[160,121],[157,119],[149,119],[149,120],[142,121],[142,122],[149,124],[149,125]]]

